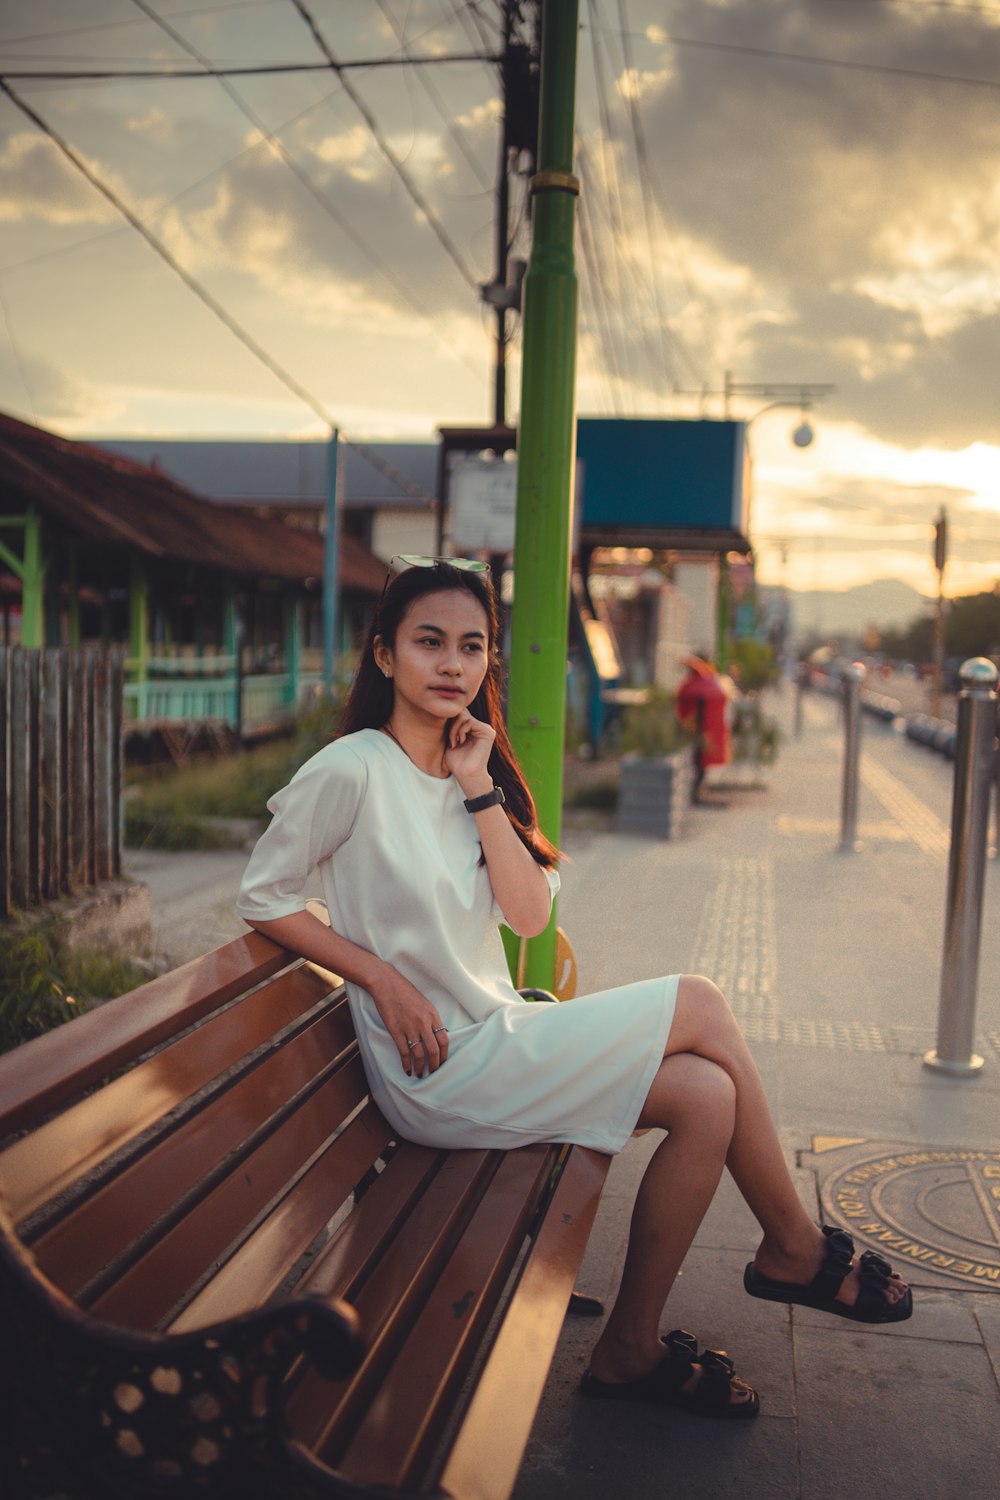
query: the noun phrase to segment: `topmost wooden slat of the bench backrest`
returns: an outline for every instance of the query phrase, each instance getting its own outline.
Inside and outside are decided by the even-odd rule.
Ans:
[[[292,962],[261,933],[246,933],[183,969],[142,986],[69,1026],[57,1026],[0,1058],[0,1137],[75,1098],[115,1068],[268,980]]]

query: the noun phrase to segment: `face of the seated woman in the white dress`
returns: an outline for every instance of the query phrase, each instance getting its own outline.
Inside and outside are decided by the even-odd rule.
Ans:
[[[486,610],[465,588],[421,594],[400,620],[394,646],[376,639],[375,660],[391,676],[394,708],[454,718],[472,702],[489,668]]]

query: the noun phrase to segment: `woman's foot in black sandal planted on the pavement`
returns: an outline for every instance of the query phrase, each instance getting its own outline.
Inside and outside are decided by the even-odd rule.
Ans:
[[[697,1340],[684,1329],[667,1334],[652,1359],[597,1348],[580,1390],[610,1401],[676,1406],[702,1416],[756,1416],[760,1408],[756,1390],[735,1374],[724,1350],[699,1353]]]

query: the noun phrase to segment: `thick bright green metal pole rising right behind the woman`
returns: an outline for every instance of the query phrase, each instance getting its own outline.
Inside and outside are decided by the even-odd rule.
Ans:
[[[541,8],[538,171],[525,278],[517,526],[508,723],[553,843],[562,826],[562,756],[570,615],[570,544],[576,468],[576,320],[573,176],[577,0]],[[508,950],[510,951],[510,950]],[[523,982],[550,988],[556,914],[526,945]]]

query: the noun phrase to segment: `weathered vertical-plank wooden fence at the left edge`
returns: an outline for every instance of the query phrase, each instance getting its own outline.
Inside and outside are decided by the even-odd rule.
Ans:
[[[0,646],[0,916],[121,873],[118,651]]]

